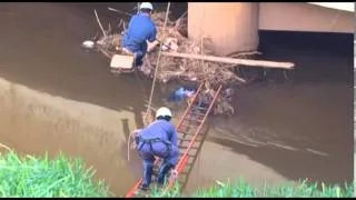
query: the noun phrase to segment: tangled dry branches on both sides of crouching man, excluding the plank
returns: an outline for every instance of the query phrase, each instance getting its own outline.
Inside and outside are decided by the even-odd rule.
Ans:
[[[211,50],[211,42],[209,39],[204,38],[200,41],[187,38],[187,18],[186,14],[181,16],[175,21],[168,19],[165,28],[166,12],[155,12],[151,16],[156,27],[157,27],[157,38],[164,42],[162,48],[165,51],[174,51],[181,53],[194,53],[194,54],[207,54],[214,56],[215,52]],[[97,17],[98,19],[98,17]],[[98,23],[100,21],[98,19]],[[97,43],[97,49],[103,53],[109,59],[113,54],[120,53],[120,38],[126,30],[126,22],[120,20],[120,27],[122,27],[122,32],[111,32],[102,30],[103,36],[99,38]],[[168,48],[167,48],[168,47]],[[162,49],[164,50],[164,49]],[[144,64],[141,66],[141,71],[152,78],[155,74],[155,69],[157,69],[157,81],[167,82],[169,80],[184,80],[190,82],[202,82],[214,86],[231,86],[243,82],[241,79],[230,70],[234,66],[227,66],[226,63],[201,61],[196,59],[182,59],[160,56],[158,59],[159,49],[155,49],[148,52],[144,59]],[[236,57],[236,56],[235,56]],[[210,87],[209,87],[210,88]],[[216,109],[214,113],[230,113],[233,114],[234,107],[230,100],[226,100],[221,96],[217,100]]]

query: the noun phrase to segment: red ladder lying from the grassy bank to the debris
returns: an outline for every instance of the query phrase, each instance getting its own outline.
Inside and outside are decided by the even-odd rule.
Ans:
[[[202,91],[204,82],[200,83],[196,94],[194,96],[188,108],[185,110],[184,114],[180,117],[177,123],[177,132],[178,132],[178,148],[179,148],[179,161],[176,167],[178,172],[178,182],[181,188],[185,187],[192,164],[198,156],[200,148],[202,147],[202,142],[207,131],[202,131],[204,123],[207,120],[218,96],[221,91],[221,86],[218,88],[215,93],[212,100],[209,104],[201,107],[199,103],[198,97]],[[200,104],[200,106],[199,106]],[[156,159],[155,161],[155,170],[157,171],[161,159]],[[154,173],[155,176],[155,173]],[[180,179],[179,179],[180,178]],[[140,179],[125,196],[126,198],[136,197],[136,191],[138,190],[142,179]],[[174,179],[169,179],[169,182],[166,187],[166,190],[171,188],[174,184]]]

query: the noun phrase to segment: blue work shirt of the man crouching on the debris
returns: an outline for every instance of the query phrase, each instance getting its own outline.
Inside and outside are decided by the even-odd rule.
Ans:
[[[122,37],[122,47],[129,49],[134,53],[147,52],[147,42],[156,40],[157,29],[150,17],[137,13],[129,22],[128,29]]]

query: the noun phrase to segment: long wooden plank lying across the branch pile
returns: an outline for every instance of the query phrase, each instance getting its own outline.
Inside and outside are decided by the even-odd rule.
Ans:
[[[162,56],[166,57],[177,57],[185,59],[197,59],[205,60],[210,62],[225,62],[230,64],[243,64],[249,67],[264,67],[264,68],[281,68],[281,69],[293,69],[293,62],[275,62],[267,60],[248,60],[248,59],[236,59],[230,57],[214,57],[214,56],[204,56],[204,54],[190,54],[190,53],[179,53],[179,52],[162,52]]]

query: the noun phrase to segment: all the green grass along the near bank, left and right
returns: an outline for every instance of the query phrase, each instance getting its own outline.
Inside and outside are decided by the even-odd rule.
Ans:
[[[53,159],[20,157],[9,150],[0,154],[0,197],[109,197],[103,181],[95,181],[92,169],[80,159],[68,159],[59,153]],[[254,188],[244,180],[235,183],[217,182],[190,197],[353,197],[353,184],[325,186],[299,181],[279,186]],[[149,197],[185,197],[178,183],[162,192],[154,187]]]

